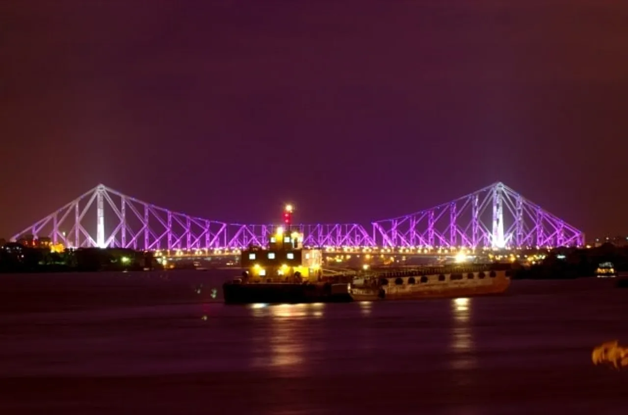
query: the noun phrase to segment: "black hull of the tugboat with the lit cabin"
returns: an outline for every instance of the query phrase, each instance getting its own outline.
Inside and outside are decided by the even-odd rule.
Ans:
[[[225,283],[225,304],[346,303],[352,302],[347,284]]]

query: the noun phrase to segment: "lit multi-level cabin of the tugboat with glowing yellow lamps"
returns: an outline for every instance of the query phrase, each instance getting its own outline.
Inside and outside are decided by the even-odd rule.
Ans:
[[[303,248],[303,234],[278,228],[268,248],[242,251],[243,276],[248,283],[315,283],[322,278],[323,252]]]

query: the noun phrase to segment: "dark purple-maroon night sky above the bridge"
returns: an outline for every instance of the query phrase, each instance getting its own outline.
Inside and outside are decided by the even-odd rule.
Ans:
[[[503,181],[628,233],[628,3],[0,1],[0,236],[99,182],[246,223]]]

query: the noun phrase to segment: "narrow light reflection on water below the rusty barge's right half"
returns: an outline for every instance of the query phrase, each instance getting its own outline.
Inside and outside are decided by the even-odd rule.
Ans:
[[[452,343],[454,354],[452,369],[473,369],[477,366],[475,344],[473,340],[471,319],[471,300],[455,298],[452,300]]]

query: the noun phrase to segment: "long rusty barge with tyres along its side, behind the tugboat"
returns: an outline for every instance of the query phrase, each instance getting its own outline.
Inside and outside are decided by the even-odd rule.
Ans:
[[[354,301],[457,298],[506,292],[510,271],[484,266],[391,271],[365,278],[350,289]]]

